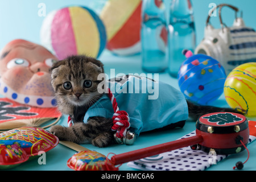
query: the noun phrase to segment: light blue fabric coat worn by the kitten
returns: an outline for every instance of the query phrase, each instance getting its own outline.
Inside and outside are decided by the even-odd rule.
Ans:
[[[117,100],[119,110],[130,118],[130,131],[137,136],[143,131],[159,129],[188,118],[188,106],[183,94],[163,82],[146,77],[125,76],[107,82]],[[85,114],[90,117],[112,118],[112,102],[104,94]]]

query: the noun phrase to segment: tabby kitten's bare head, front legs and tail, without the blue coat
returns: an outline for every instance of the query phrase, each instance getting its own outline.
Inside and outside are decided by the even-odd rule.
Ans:
[[[51,133],[60,140],[75,143],[87,141],[98,147],[111,144],[114,141],[114,132],[111,130],[112,118],[93,117],[89,118],[87,123],[83,122],[88,108],[102,96],[97,92],[97,86],[101,82],[97,80],[97,77],[100,73],[104,73],[101,61],[83,55],[69,56],[53,64],[51,72],[51,83],[55,90],[58,109],[61,113],[70,115],[74,123],[71,127],[52,126]],[[193,120],[207,113],[221,111],[239,113],[229,108],[199,106],[189,101],[187,103],[189,117]],[[184,123],[180,123],[179,126],[182,127]]]

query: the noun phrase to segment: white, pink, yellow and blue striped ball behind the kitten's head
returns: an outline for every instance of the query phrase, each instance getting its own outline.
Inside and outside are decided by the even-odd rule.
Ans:
[[[72,6],[46,16],[40,39],[42,45],[60,60],[79,54],[97,58],[106,46],[106,30],[94,11]]]

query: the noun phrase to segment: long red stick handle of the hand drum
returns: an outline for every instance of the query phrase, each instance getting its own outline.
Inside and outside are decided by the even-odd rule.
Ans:
[[[123,154],[113,155],[111,158],[111,162],[114,165],[118,165],[118,164],[130,162],[133,160],[138,160],[138,159],[146,158],[149,156],[161,154],[163,152],[176,150],[177,148],[192,146],[193,144],[197,144],[201,142],[203,142],[203,137],[201,137],[201,135],[196,135],[189,138],[183,138],[183,139],[175,140],[172,142],[158,144],[156,146],[141,148],[139,150],[126,152]]]

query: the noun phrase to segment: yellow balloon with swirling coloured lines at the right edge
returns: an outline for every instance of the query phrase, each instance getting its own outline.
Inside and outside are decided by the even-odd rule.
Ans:
[[[229,106],[256,116],[256,63],[242,64],[229,73],[224,85]]]

